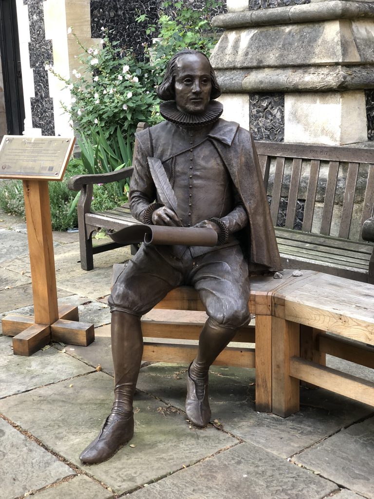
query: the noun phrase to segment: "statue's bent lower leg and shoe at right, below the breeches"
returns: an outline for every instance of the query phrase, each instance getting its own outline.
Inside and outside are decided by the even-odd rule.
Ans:
[[[187,371],[186,413],[194,425],[204,427],[210,421],[208,372],[216,357],[235,335],[237,327],[218,324],[210,318],[200,333],[197,357]]]

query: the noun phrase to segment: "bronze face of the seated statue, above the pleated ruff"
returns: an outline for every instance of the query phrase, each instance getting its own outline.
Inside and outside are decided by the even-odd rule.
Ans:
[[[177,60],[176,104],[189,114],[203,113],[210,101],[210,64],[201,54],[184,54]]]

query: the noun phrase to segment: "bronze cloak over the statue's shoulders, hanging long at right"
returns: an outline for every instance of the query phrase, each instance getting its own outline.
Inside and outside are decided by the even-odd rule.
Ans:
[[[157,145],[168,140],[169,126],[175,125],[164,122],[137,134],[141,148],[148,156],[163,160],[153,150],[152,144],[155,145],[155,150],[159,150]],[[281,270],[282,263],[269,204],[251,134],[235,122],[218,119],[209,132],[208,139],[225,164],[248,215],[249,225],[236,235],[248,260],[249,271]]]

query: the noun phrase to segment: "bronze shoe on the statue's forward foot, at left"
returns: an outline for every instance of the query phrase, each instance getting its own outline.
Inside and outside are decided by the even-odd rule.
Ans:
[[[87,465],[103,463],[110,459],[134,435],[134,414],[126,419],[111,414],[106,419],[99,436],[86,447],[79,459]]]

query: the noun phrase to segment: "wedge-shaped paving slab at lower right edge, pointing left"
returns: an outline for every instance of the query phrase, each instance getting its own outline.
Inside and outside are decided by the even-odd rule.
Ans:
[[[374,498],[374,417],[307,449],[295,462],[367,498]]]

